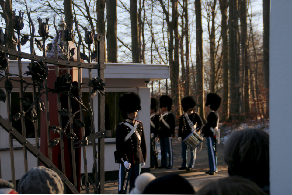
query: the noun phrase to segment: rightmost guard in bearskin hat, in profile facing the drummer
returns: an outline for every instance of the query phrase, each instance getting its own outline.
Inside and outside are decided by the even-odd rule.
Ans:
[[[206,98],[205,106],[209,106],[211,112],[207,117],[207,122],[203,127],[202,133],[207,139],[208,145],[208,156],[209,156],[209,167],[210,170],[206,171],[209,175],[218,173],[217,168],[217,150],[216,150],[216,133],[218,131],[219,114],[218,108],[221,104],[221,97],[216,93],[209,93]]]

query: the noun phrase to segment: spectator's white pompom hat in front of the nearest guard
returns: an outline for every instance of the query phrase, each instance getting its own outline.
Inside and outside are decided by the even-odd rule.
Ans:
[[[139,175],[135,180],[135,188],[130,194],[142,194],[148,183],[155,179],[155,176],[151,173],[143,173]]]

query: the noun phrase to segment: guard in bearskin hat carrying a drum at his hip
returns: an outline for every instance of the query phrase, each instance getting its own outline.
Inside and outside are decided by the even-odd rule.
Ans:
[[[179,122],[179,137],[178,140],[184,140],[190,133],[199,132],[203,127],[203,120],[197,112],[193,112],[196,102],[192,96],[187,96],[181,101],[183,114]],[[200,133],[199,133],[200,134]],[[188,149],[189,146],[182,141],[182,166],[179,170],[192,170],[196,161],[197,148],[191,150],[191,161],[188,165]]]

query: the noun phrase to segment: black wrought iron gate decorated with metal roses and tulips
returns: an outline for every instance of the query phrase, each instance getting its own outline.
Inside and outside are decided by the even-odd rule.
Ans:
[[[3,12],[7,17],[6,21],[8,20],[8,16],[5,12],[5,4],[2,6]],[[82,54],[82,59],[88,60],[89,63],[80,62],[80,45],[81,45],[81,34],[78,29],[78,21],[75,22],[75,28],[78,33],[79,42],[77,49],[69,48],[69,42],[72,40],[73,37],[73,23],[68,24],[64,27],[62,31],[62,35],[64,40],[66,41],[65,45],[58,44],[56,41],[55,45],[47,44],[46,36],[48,35],[48,23],[49,19],[46,18],[46,22],[42,23],[41,19],[39,20],[39,34],[42,37],[42,42],[38,41],[34,38],[34,24],[30,18],[30,12],[28,12],[28,18],[30,25],[32,27],[32,33],[30,35],[30,50],[31,54],[21,52],[21,45],[25,44],[25,41],[29,39],[29,37],[20,37],[20,30],[23,29],[23,13],[19,12],[19,16],[17,16],[14,12],[13,16],[13,26],[14,29],[17,31],[18,37],[13,37],[15,44],[17,45],[18,50],[9,49],[7,47],[8,43],[8,24],[6,24],[5,28],[5,46],[0,45],[0,82],[4,82],[6,92],[0,88],[0,101],[7,101],[7,112],[8,112],[8,119],[7,121],[0,116],[0,125],[9,133],[9,148],[10,148],[10,159],[11,159],[11,172],[12,172],[12,183],[16,184],[15,179],[15,167],[14,167],[14,149],[13,149],[13,139],[19,141],[20,144],[23,146],[23,154],[24,154],[24,167],[25,172],[28,171],[28,159],[27,159],[27,151],[32,153],[36,157],[36,164],[37,166],[45,165],[47,168],[51,168],[55,172],[57,172],[61,179],[63,180],[65,186],[70,193],[78,193],[78,183],[82,183],[82,180],[85,181],[85,187],[81,185],[81,188],[86,190],[86,193],[89,193],[89,184],[92,184],[94,187],[95,193],[103,194],[104,193],[104,137],[110,136],[110,131],[104,130],[104,86],[105,83],[102,81],[104,80],[104,69],[106,68],[104,64],[104,37],[102,34],[95,34],[93,35],[92,31],[88,31],[85,29],[85,42],[88,45],[88,57],[85,54]],[[55,25],[55,18],[54,18],[54,27],[56,30],[56,40],[59,40],[59,31]],[[35,41],[34,41],[35,39]],[[97,50],[90,53],[90,45],[97,42]],[[37,47],[43,51],[43,56],[34,55],[33,44],[36,42]],[[46,57],[46,53],[51,49],[54,49],[55,58],[48,58]],[[58,58],[58,50],[63,53],[63,55],[67,56],[66,60]],[[70,58],[75,54],[77,50],[77,62],[70,61]],[[18,74],[9,73],[9,57],[16,57],[18,59]],[[94,55],[96,58],[96,63],[92,63],[91,57]],[[28,66],[28,71],[23,74],[22,71],[22,61],[21,59],[28,59],[31,60],[30,65]],[[47,65],[53,65],[55,68],[55,82],[54,88],[48,87],[48,76],[49,76],[49,68]],[[78,85],[72,84],[72,77],[70,76],[70,68],[77,68],[78,72]],[[66,69],[66,73],[60,74],[59,69],[64,68]],[[89,80],[86,83],[82,83],[82,69],[88,69],[88,78]],[[97,78],[92,79],[92,69],[97,69],[98,74]],[[26,75],[26,76],[24,76]],[[31,82],[27,81],[27,76],[31,76]],[[15,79],[14,77],[18,77]],[[19,94],[20,94],[20,111],[12,116],[11,113],[11,91],[13,88],[13,82],[19,82]],[[82,84],[86,84],[89,86],[89,98],[88,100],[82,99]],[[24,86],[25,85],[25,86]],[[23,97],[24,91],[27,87],[32,88],[32,100]],[[72,93],[72,90],[78,91],[77,95]],[[36,94],[38,92],[38,95]],[[49,112],[49,94],[57,93],[57,110],[58,113],[50,113]],[[61,100],[60,94],[63,96],[68,96],[68,109],[61,109]],[[97,95],[98,98],[98,113],[94,113],[93,115],[93,96]],[[14,100],[13,100],[14,101]],[[72,112],[72,101],[78,102],[79,109],[77,111]],[[84,105],[84,101],[88,101],[88,107]],[[29,106],[30,108],[25,110],[24,105]],[[39,129],[38,129],[38,115],[37,115],[37,108],[44,112],[47,135],[47,157],[45,154],[42,154],[40,149],[40,141],[39,141]],[[36,146],[30,144],[30,142],[26,139],[26,125],[25,125],[25,116],[26,113],[30,111],[30,120],[34,124],[34,132],[35,132],[35,141]],[[84,124],[83,113],[87,112],[90,117],[90,124]],[[58,115],[58,124],[59,125],[50,125],[50,115]],[[80,114],[80,117],[75,118],[77,114]],[[63,117],[68,117],[68,121],[66,125],[64,125]],[[97,116],[97,117],[96,117]],[[97,119],[97,125],[94,124],[94,119]],[[21,133],[19,133],[14,127],[12,127],[12,120],[21,120]],[[62,124],[63,123],[63,124]],[[85,135],[85,126],[89,126],[91,131],[89,135]],[[63,128],[64,126],[64,128]],[[81,129],[81,137],[76,135],[73,130],[73,126],[78,127]],[[68,128],[67,128],[68,127]],[[95,131],[97,129],[97,131]],[[42,129],[41,129],[42,130]],[[51,138],[51,132],[54,132],[57,137],[54,139]],[[65,176],[65,157],[64,157],[64,139],[68,139],[68,144],[71,147],[71,163],[72,163],[72,171],[73,171],[73,182],[71,183],[69,179]],[[96,139],[98,142],[96,144]],[[87,158],[86,158],[86,145],[92,143],[93,147],[93,158],[94,158],[94,165],[92,169],[93,177],[90,178],[87,172]],[[60,144],[61,146],[61,170],[57,168],[56,165],[52,163],[52,148]],[[97,151],[96,151],[97,145]],[[77,181],[77,172],[76,172],[76,164],[75,164],[75,150],[82,147],[83,151],[83,161],[84,161],[84,176]],[[1,156],[1,153],[0,153]],[[98,163],[97,163],[98,162]],[[1,170],[1,164],[0,164]],[[1,172],[0,172],[1,177]]]

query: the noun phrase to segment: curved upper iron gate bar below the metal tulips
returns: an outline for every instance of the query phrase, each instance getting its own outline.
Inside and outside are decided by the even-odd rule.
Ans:
[[[24,53],[21,51],[16,51],[13,49],[9,49],[7,47],[4,47],[0,45],[0,51],[5,52],[6,54],[13,55],[13,56],[21,56],[21,58],[28,59],[28,60],[34,60],[34,61],[40,61],[43,60],[43,62],[47,64],[57,64],[62,66],[70,66],[70,67],[80,67],[80,68],[88,68],[88,69],[105,69],[106,65],[103,64],[96,64],[96,63],[85,63],[85,62],[75,62],[75,61],[67,61],[67,60],[61,60],[61,59],[54,59],[54,58],[47,58],[42,56],[36,56],[33,54]]]

